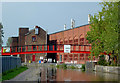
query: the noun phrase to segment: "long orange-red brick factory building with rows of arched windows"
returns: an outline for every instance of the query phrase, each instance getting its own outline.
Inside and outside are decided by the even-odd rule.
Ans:
[[[68,30],[63,30],[60,32],[49,34],[49,43],[52,44],[69,44],[69,45],[90,45],[86,40],[85,36],[89,29],[90,25],[83,25]],[[73,47],[71,47],[73,49]],[[77,49],[77,48],[76,48]],[[81,46],[81,51],[84,48]],[[89,47],[86,47],[86,51],[89,51]],[[90,61],[88,58],[89,54],[81,53],[57,53],[56,55],[57,62],[60,61],[60,56],[62,56],[62,62],[64,63],[77,63],[84,64],[86,61]],[[95,60],[95,59],[94,59]]]

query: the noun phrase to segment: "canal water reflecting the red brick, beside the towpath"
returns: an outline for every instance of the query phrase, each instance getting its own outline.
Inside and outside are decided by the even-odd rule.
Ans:
[[[120,75],[101,72],[82,72],[81,69],[40,67],[38,81],[118,81]],[[120,81],[120,80],[119,80]]]

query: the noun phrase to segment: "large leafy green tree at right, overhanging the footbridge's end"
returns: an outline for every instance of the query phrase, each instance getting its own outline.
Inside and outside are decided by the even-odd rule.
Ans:
[[[91,53],[98,56],[102,52],[118,57],[118,2],[102,2],[102,11],[91,16],[87,40],[92,45]],[[116,58],[117,61],[117,58]]]

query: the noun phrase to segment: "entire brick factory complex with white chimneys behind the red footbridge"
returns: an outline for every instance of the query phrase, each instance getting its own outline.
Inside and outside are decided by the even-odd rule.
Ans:
[[[89,17],[88,17],[89,18]],[[89,19],[88,19],[89,22]],[[71,28],[66,29],[66,25],[64,25],[64,30],[55,32],[52,34],[47,34],[45,30],[43,30],[39,26],[35,26],[34,29],[29,30],[29,28],[19,28],[19,36],[18,37],[11,37],[13,39],[11,46],[28,46],[28,49],[41,50],[42,47],[37,47],[37,45],[56,45],[55,49],[58,49],[57,45],[71,45],[71,50],[80,49],[81,51],[90,51],[89,47],[84,48],[82,45],[90,45],[86,40],[86,34],[89,29],[90,25],[82,25],[75,27],[75,21],[71,19]],[[76,45],[76,47],[73,47]],[[47,49],[47,46],[44,46],[44,49]],[[21,50],[21,47],[17,50]],[[22,50],[26,50],[25,47]],[[83,53],[33,53],[33,54],[22,54],[20,55],[22,62],[39,62],[39,60],[44,59],[52,59],[52,62],[63,62],[63,63],[75,63],[75,64],[84,64],[86,61],[91,61],[89,54]],[[97,61],[97,58],[93,58],[93,61]]]

